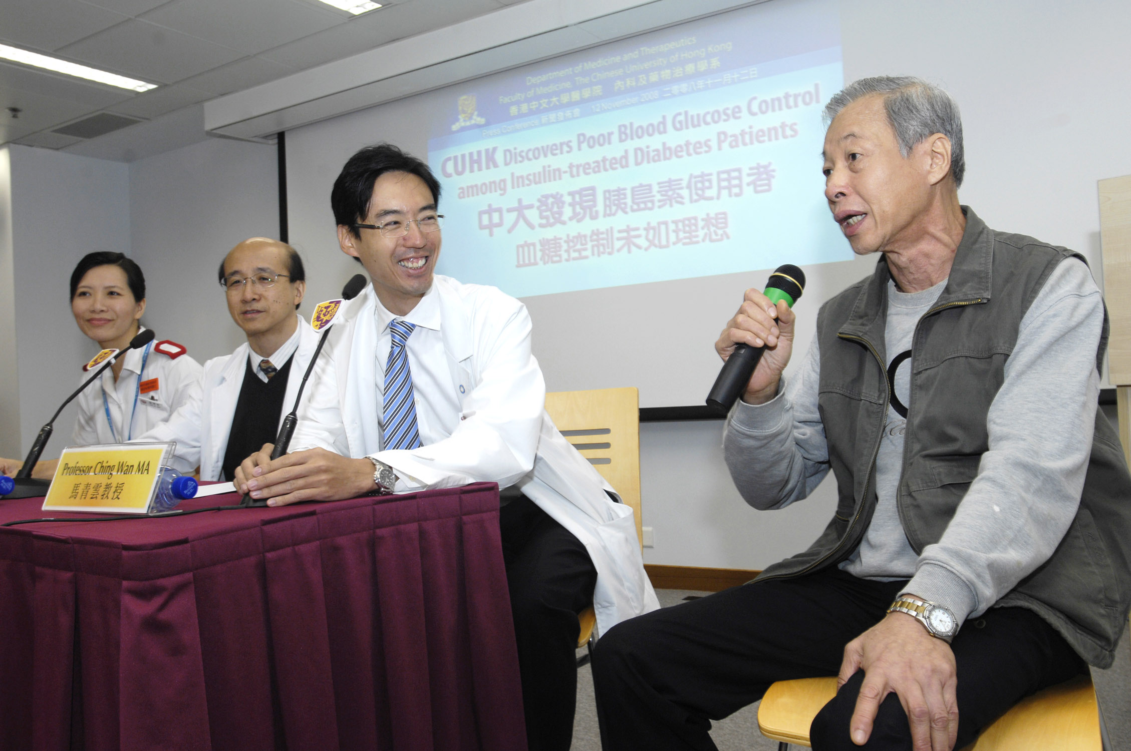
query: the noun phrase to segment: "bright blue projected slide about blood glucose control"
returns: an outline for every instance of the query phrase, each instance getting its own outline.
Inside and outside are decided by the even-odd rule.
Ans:
[[[469,84],[429,140],[440,271],[530,296],[849,258],[819,157],[843,85],[828,5],[800,24],[725,14]]]

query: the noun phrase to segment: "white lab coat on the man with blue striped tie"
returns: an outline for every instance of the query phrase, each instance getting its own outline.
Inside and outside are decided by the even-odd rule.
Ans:
[[[517,485],[586,547],[597,570],[594,610],[598,632],[659,607],[644,571],[632,509],[554,428],[545,413],[545,382],[530,354],[525,305],[494,287],[437,276],[440,333],[460,405],[446,439],[413,450],[381,451],[372,285],[345,303],[299,412],[292,446],[343,456],[377,456],[414,485],[451,487],[472,482]],[[355,356],[355,339],[365,352]],[[426,395],[416,394],[420,403]],[[368,424],[363,425],[363,421]]]

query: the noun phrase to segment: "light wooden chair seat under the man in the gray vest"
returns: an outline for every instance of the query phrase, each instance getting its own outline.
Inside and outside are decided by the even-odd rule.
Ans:
[[[778,751],[791,743],[810,745],[813,717],[837,692],[835,677],[778,681],[762,697],[758,730],[778,741]],[[982,731],[965,751],[1100,751],[1099,705],[1091,675],[1050,687],[1021,700]]]

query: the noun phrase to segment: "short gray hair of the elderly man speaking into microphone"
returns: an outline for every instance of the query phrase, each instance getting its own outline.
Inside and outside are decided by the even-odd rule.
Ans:
[[[824,105],[824,126],[840,114],[840,111],[856,100],[872,94],[883,95],[883,109],[888,122],[896,131],[899,153],[904,158],[917,144],[933,133],[942,133],[950,139],[950,174],[955,184],[962,184],[966,173],[966,156],[962,152],[962,119],[958,104],[938,86],[912,76],[877,76],[861,78],[845,86]]]

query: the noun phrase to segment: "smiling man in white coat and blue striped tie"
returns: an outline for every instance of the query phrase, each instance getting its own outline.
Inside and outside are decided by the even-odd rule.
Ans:
[[[343,167],[338,241],[371,284],[316,365],[295,450],[264,447],[236,485],[277,506],[499,483],[528,745],[568,749],[577,613],[592,602],[603,631],[658,603],[631,509],[545,414],[526,308],[434,275],[439,198],[428,165],[387,144]]]

